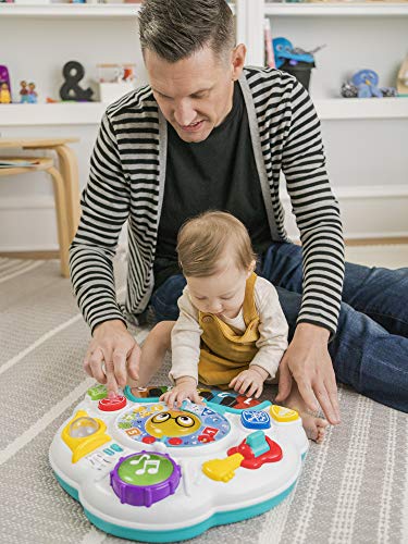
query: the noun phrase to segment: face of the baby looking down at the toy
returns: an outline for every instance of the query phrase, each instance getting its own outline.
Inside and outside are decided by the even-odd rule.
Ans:
[[[214,275],[186,277],[194,306],[202,312],[235,318],[243,307],[246,281],[251,271],[225,260]]]

